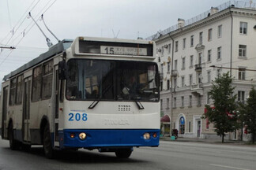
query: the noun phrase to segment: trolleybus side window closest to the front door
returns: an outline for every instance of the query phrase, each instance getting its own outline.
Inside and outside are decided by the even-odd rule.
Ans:
[[[42,99],[51,98],[51,86],[53,75],[53,61],[48,61],[43,64],[43,88]]]

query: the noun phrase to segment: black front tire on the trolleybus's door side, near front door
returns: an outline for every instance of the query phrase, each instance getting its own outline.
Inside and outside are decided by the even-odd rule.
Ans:
[[[51,146],[51,134],[49,126],[45,126],[43,129],[43,151],[45,157],[48,159],[54,158],[54,150]]]

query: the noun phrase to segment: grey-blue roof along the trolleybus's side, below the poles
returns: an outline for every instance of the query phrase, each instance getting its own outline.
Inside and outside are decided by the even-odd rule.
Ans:
[[[36,57],[32,61],[29,61],[28,63],[22,65],[20,68],[17,68],[13,72],[10,72],[8,75],[4,76],[3,80],[6,81],[6,79],[16,76],[20,72],[24,72],[28,68],[32,68],[34,65],[37,65],[40,62],[47,60],[48,58],[56,54],[62,53],[62,51],[68,49],[71,46],[72,42],[73,42],[73,39],[63,39],[61,42],[58,42],[54,46],[51,46],[47,52],[40,54],[39,57]]]

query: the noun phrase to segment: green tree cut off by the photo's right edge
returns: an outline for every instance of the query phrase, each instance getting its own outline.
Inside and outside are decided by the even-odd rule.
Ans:
[[[244,124],[247,125],[247,131],[251,134],[252,142],[256,137],[256,90],[251,88],[247,104],[241,105],[241,113],[243,114]]]

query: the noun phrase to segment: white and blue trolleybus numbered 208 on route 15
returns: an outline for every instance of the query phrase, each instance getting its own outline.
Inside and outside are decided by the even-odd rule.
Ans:
[[[97,149],[127,158],[158,146],[155,42],[77,37],[3,78],[0,133],[12,150]]]

